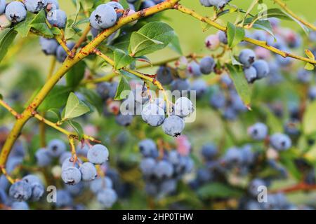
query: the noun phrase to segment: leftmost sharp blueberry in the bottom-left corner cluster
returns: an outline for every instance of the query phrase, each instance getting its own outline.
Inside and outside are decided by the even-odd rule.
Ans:
[[[27,201],[32,197],[32,186],[25,181],[18,181],[11,185],[9,195],[19,202]]]

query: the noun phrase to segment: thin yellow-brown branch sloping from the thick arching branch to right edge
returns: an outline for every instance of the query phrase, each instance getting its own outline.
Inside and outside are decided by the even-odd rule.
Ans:
[[[221,31],[227,31],[226,27],[223,27],[222,25],[219,25],[217,22],[213,22],[211,19],[203,17],[202,15],[199,15],[198,13],[196,13],[194,10],[190,9],[190,8],[186,8],[185,6],[182,5],[176,5],[175,8],[177,10],[179,10],[182,13],[185,13],[187,15],[191,15],[194,18],[197,18],[198,20],[201,20],[202,22],[206,22],[207,24],[211,25],[212,27],[215,27],[216,29],[219,29]],[[248,43],[252,43],[254,45],[258,45],[261,46],[262,48],[268,49],[272,52],[275,52],[278,55],[281,55],[282,57],[292,57],[294,59],[298,59],[301,60],[303,62],[309,62],[310,64],[316,64],[316,60],[315,59],[310,59],[308,57],[301,57],[298,55],[294,55],[290,52],[285,52],[283,50],[279,50],[277,48],[274,48],[270,45],[268,45],[267,42],[265,41],[258,41],[249,37],[244,37],[244,41],[248,42]]]

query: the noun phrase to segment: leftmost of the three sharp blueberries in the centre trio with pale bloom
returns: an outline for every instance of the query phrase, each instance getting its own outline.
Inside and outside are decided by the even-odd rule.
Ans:
[[[142,118],[150,126],[160,126],[165,119],[164,109],[157,104],[147,104],[143,107]]]

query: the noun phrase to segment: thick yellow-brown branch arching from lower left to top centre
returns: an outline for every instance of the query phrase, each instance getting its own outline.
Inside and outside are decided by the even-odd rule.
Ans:
[[[176,5],[176,3],[178,3],[178,1],[180,0],[167,0],[162,3],[157,4],[156,6],[152,6],[150,8],[145,8],[143,10],[140,10],[137,13],[134,13],[132,15],[122,16],[116,25],[108,29],[105,29],[103,32],[101,32],[96,38],[93,39],[93,41],[91,41],[86,46],[84,46],[84,48],[82,48],[73,58],[67,57],[67,59],[62,64],[60,69],[58,69],[55,75],[52,76],[45,83],[45,85],[41,88],[39,93],[34,97],[31,104],[29,104],[29,106],[27,106],[27,109],[23,111],[21,118],[16,121],[10,134],[8,134],[8,138],[6,139],[6,142],[0,154],[0,166],[6,164],[6,160],[8,159],[8,154],[10,153],[11,148],[13,147],[13,144],[15,143],[16,139],[18,139],[18,136],[23,126],[25,125],[25,123],[27,123],[27,120],[29,120],[29,118],[32,117],[32,113],[34,113],[34,110],[37,109],[37,107],[41,104],[41,102],[44,101],[47,94],[53,89],[55,84],[58,83],[60,78],[62,78],[62,76],[64,76],[65,73],[69,69],[72,68],[72,66],[74,66],[79,61],[81,61],[81,59],[84,59],[84,57],[87,57],[88,55],[90,55],[91,52],[93,52],[93,50],[98,45],[100,45],[100,43],[102,43],[108,36],[113,34],[114,31],[117,31],[119,28],[135,20],[140,20],[141,18],[154,15],[155,13],[172,9]]]

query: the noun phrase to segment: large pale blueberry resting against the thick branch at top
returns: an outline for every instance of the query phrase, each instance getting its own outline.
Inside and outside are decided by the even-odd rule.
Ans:
[[[108,4],[101,4],[91,13],[90,23],[94,29],[107,29],[117,22],[117,12]]]

